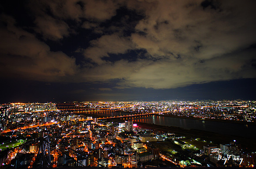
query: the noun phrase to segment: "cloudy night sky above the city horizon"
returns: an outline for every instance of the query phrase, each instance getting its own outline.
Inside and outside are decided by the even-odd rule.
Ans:
[[[1,0],[1,102],[256,99],[255,0]]]

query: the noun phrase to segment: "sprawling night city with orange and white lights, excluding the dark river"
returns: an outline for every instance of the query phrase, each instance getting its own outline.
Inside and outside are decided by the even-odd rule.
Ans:
[[[9,103],[0,106],[0,165],[5,168],[253,167],[256,163],[256,150],[235,137],[218,141],[214,135],[194,134],[193,137],[184,132],[183,127],[170,130],[163,123],[146,121],[176,118],[174,120],[197,120],[202,125],[213,120],[255,126],[256,101]],[[178,132],[181,130],[183,133]]]

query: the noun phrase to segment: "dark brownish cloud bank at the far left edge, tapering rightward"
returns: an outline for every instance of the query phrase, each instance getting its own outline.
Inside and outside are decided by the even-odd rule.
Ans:
[[[3,76],[23,77],[43,81],[58,81],[77,71],[75,58],[61,51],[53,52],[33,34],[15,26],[15,20],[0,15],[0,56]]]

